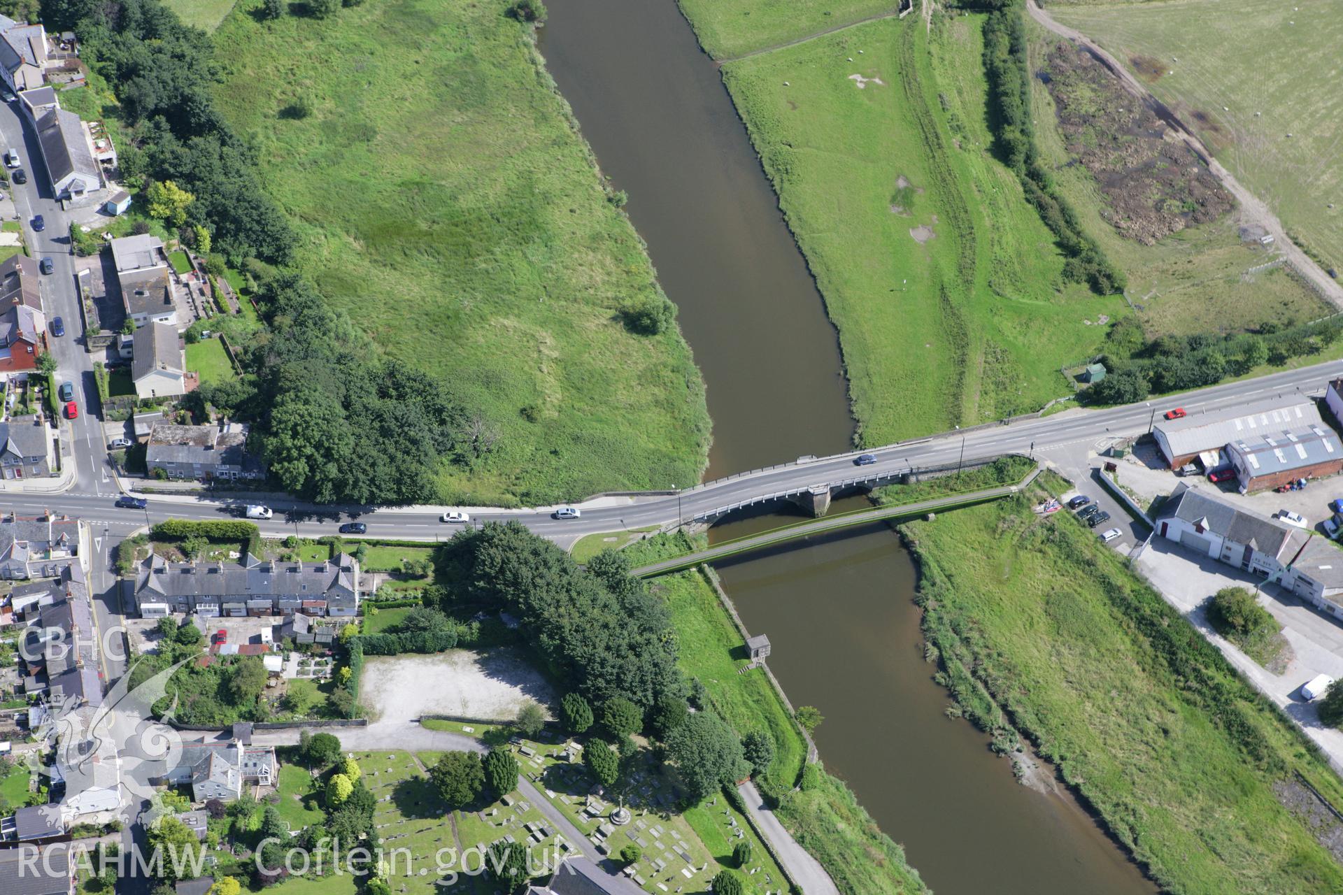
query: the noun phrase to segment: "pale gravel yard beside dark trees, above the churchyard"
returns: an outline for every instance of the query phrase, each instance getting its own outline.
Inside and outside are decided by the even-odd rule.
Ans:
[[[379,722],[411,722],[422,715],[512,721],[528,700],[545,707],[555,694],[510,649],[368,656],[360,683],[360,702]]]

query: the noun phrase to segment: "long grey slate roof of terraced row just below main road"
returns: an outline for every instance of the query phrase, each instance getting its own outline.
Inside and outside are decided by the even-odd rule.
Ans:
[[[321,600],[328,594],[355,596],[357,564],[349,554],[329,562],[261,562],[251,556],[236,562],[168,562],[150,556],[140,564],[136,593],[153,597],[295,597]]]

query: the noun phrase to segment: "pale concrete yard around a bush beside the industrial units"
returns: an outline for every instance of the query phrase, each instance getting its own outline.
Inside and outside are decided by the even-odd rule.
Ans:
[[[1138,570],[1175,607],[1199,633],[1260,691],[1283,708],[1305,734],[1319,743],[1336,770],[1343,773],[1343,731],[1320,725],[1313,704],[1300,695],[1301,684],[1319,674],[1343,678],[1343,628],[1313,607],[1275,585],[1258,590],[1260,604],[1283,624],[1283,636],[1295,656],[1281,675],[1262,668],[1236,645],[1213,631],[1203,601],[1222,588],[1256,589],[1260,578],[1198,556],[1166,538],[1152,538],[1138,560]]]

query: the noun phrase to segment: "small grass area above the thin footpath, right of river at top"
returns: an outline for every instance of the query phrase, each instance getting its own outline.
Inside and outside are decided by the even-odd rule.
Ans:
[[[700,46],[732,59],[892,12],[893,0],[680,0]]]

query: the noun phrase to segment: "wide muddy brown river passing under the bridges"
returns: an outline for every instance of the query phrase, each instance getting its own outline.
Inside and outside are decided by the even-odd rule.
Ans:
[[[649,244],[708,384],[706,478],[845,450],[834,327],[713,62],[672,0],[548,0],[541,50]],[[857,502],[858,499],[850,499]],[[838,502],[839,509],[857,503]],[[776,525],[755,515],[714,539]],[[1138,868],[1070,797],[1017,784],[923,662],[916,573],[886,527],[725,564],[826,766],[940,895],[1138,895]]]

